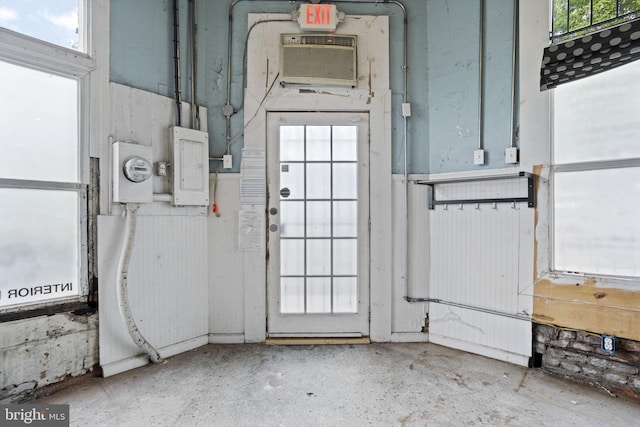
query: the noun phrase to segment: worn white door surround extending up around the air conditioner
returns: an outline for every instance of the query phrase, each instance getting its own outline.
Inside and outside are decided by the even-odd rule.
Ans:
[[[286,14],[249,14],[249,24]],[[267,113],[344,111],[369,113],[370,143],[370,309],[371,341],[391,341],[392,293],[392,111],[389,90],[389,17],[348,16],[337,33],[358,35],[358,86],[355,89],[280,87],[279,34],[299,32],[291,22],[261,25],[247,44],[244,90],[244,148],[266,149]],[[274,64],[274,58],[276,63]],[[274,83],[275,82],[275,83]],[[266,206],[264,210],[266,223]],[[265,227],[266,233],[266,227]],[[263,342],[267,329],[266,245],[242,252],[244,341]],[[401,295],[399,297],[402,297]]]

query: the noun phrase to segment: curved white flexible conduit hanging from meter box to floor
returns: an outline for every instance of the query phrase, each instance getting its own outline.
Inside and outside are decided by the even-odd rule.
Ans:
[[[118,288],[118,308],[120,309],[120,316],[127,326],[127,331],[136,343],[140,350],[144,351],[149,360],[153,363],[162,362],[160,353],[156,350],[149,341],[142,336],[138,326],[136,325],[133,315],[131,314],[131,307],[129,306],[129,294],[127,291],[127,278],[129,276],[129,261],[131,260],[131,253],[133,252],[133,241],[136,237],[136,219],[138,216],[138,208],[140,205],[137,203],[127,203],[126,213],[127,221],[125,228],[124,243],[122,245],[122,252],[120,253],[120,261],[118,262],[118,272],[116,284]]]

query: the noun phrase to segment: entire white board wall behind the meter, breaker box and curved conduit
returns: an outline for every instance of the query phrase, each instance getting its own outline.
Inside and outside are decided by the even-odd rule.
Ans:
[[[153,160],[169,158],[168,128],[175,124],[171,98],[111,84],[112,141],[153,148]],[[188,112],[183,109],[183,116]],[[206,112],[201,114],[206,117]],[[203,123],[206,129],[206,122]],[[105,141],[105,144],[108,144]],[[105,150],[110,155],[110,150]],[[110,160],[101,159],[101,191],[109,193]],[[170,191],[167,177],[154,176],[155,193]],[[104,199],[102,199],[104,200]],[[116,293],[125,217],[120,204],[103,203],[98,217],[100,364],[105,376],[148,363],[120,317]],[[208,342],[208,234],[204,207],[141,205],[131,257],[131,311],[143,336],[167,357]]]

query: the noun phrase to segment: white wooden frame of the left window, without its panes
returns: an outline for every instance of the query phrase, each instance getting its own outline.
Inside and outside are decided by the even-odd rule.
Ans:
[[[107,43],[106,36],[97,36],[94,25],[98,17],[98,2],[78,1],[79,47],[86,52],[99,51]],[[108,2],[106,2],[108,7]],[[103,15],[104,16],[104,15]],[[107,15],[108,16],[108,15]],[[108,21],[107,21],[108,25]],[[95,39],[95,40],[94,40]],[[95,42],[95,43],[94,43]],[[91,310],[89,275],[89,212],[90,203],[90,150],[91,137],[97,132],[91,129],[98,103],[103,100],[92,96],[92,82],[97,61],[89,53],[74,50],[27,36],[6,28],[0,28],[0,60],[16,66],[45,72],[75,80],[78,85],[78,180],[77,182],[54,182],[39,180],[0,178],[0,188],[38,189],[46,191],[73,191],[78,195],[78,261],[79,294],[71,297],[52,298],[48,301],[28,302],[0,308],[0,322],[24,319],[45,314],[67,311]],[[104,73],[104,72],[103,72]],[[100,95],[100,94],[98,94]],[[94,124],[100,125],[100,123]]]

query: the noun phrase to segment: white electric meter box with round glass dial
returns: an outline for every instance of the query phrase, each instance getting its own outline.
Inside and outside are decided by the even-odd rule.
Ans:
[[[113,201],[151,203],[153,201],[152,149],[130,142],[113,144]]]

